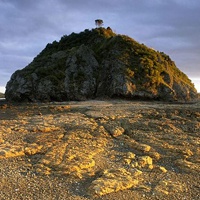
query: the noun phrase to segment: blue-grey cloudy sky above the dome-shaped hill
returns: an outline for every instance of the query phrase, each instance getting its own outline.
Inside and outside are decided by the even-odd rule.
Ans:
[[[0,91],[47,43],[98,18],[168,54],[200,92],[199,0],[0,0]]]

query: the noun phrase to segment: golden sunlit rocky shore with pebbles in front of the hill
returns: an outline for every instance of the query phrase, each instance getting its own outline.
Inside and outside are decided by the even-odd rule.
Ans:
[[[200,102],[0,104],[0,197],[200,199]]]

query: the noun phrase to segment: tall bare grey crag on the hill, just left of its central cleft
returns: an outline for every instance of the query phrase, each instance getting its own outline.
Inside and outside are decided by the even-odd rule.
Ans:
[[[87,46],[74,48],[66,60],[65,91],[69,100],[85,100],[95,97],[99,63]]]

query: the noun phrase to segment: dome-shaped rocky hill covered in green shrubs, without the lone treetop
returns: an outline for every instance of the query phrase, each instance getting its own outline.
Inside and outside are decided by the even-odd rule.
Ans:
[[[6,86],[10,101],[66,101],[96,97],[192,100],[197,91],[170,57],[110,28],[54,41]]]

